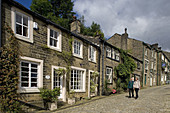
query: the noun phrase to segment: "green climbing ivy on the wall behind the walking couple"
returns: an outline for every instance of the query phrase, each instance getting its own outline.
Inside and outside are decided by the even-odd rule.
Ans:
[[[130,74],[135,71],[137,66],[135,61],[129,57],[128,51],[120,49],[120,56],[122,63],[114,68],[115,75],[117,76],[116,87],[117,90],[126,90]]]

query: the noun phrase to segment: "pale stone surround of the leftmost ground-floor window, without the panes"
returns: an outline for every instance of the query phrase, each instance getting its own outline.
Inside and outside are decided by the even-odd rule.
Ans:
[[[38,76],[37,76],[37,87],[31,87],[31,88],[25,88],[21,87],[21,84],[19,84],[19,90],[18,92],[20,93],[31,93],[31,92],[40,92],[39,88],[43,87],[43,60],[40,59],[35,59],[31,57],[20,57],[21,61],[26,61],[26,62],[34,62],[39,64],[38,65]],[[21,71],[20,71],[20,80],[21,81]]]

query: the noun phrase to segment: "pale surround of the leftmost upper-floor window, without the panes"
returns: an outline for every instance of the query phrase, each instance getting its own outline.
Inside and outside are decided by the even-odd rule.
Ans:
[[[16,13],[28,17],[28,37],[16,34]],[[15,33],[16,38],[33,43],[33,17],[24,11],[12,7],[11,8],[11,25],[12,25],[12,30]]]

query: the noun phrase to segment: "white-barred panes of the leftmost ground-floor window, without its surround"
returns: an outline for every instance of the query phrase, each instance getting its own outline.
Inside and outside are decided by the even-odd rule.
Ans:
[[[21,61],[20,73],[21,87],[33,88],[38,86],[38,64],[33,62]]]

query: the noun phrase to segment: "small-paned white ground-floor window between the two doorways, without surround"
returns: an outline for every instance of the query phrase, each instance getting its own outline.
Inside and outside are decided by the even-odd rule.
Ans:
[[[71,70],[71,89],[81,91],[84,89],[84,71],[78,69]]]

